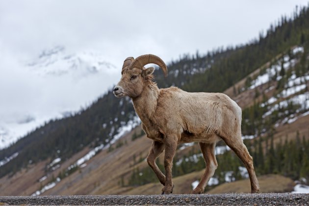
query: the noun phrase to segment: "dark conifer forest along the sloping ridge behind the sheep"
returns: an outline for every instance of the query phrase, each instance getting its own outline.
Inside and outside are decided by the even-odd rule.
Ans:
[[[192,92],[222,92],[279,53],[308,42],[309,9],[304,7],[293,17],[283,17],[278,24],[270,26],[265,36],[260,35],[245,45],[219,48],[204,54],[184,54],[167,64],[167,78],[156,72],[156,81],[159,87],[175,85]],[[46,122],[9,148],[0,150],[0,159],[19,153],[1,166],[0,177],[12,175],[30,162],[35,164],[56,157],[65,160],[85,147],[106,145],[134,115],[129,98],[119,100],[110,89],[88,108]]]

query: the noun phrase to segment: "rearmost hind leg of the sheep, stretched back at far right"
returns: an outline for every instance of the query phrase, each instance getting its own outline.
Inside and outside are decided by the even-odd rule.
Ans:
[[[259,192],[259,185],[256,173],[253,167],[253,158],[249,154],[246,145],[243,143],[241,139],[241,134],[238,134],[236,139],[234,138],[225,138],[222,137],[225,143],[237,154],[237,156],[241,159],[244,163],[245,167],[247,168],[250,183],[251,183],[251,193],[258,193]]]

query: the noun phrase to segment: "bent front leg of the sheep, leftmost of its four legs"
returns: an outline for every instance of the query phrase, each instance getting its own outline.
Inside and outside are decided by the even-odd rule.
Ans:
[[[161,142],[153,141],[152,147],[150,149],[150,152],[147,156],[147,162],[149,166],[154,170],[154,173],[156,177],[159,179],[161,184],[165,185],[165,176],[161,172],[161,170],[158,168],[158,166],[155,163],[156,157],[158,157],[164,150],[164,144]]]

